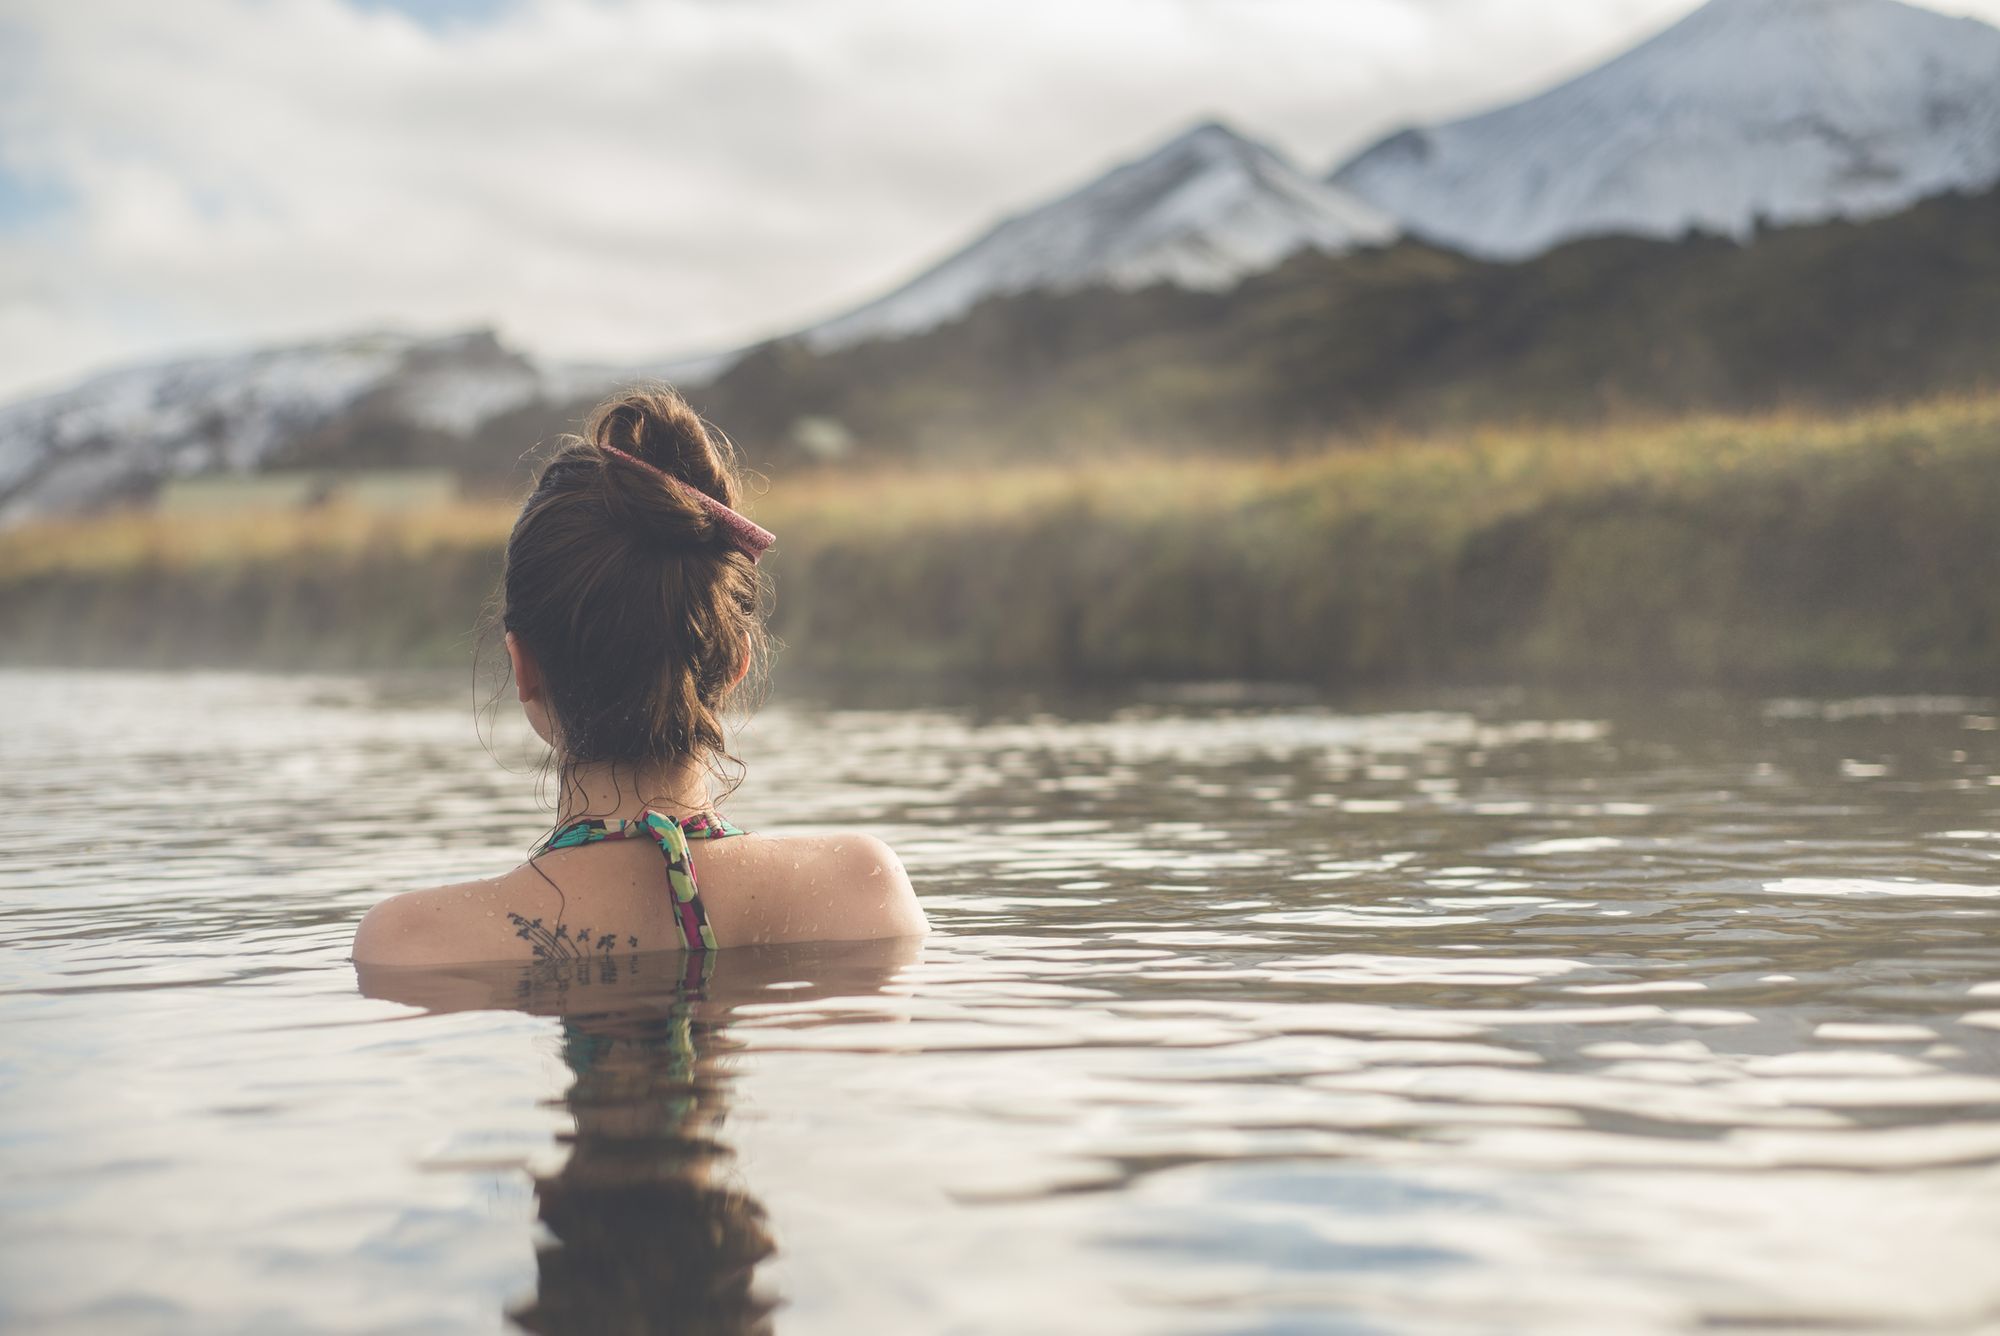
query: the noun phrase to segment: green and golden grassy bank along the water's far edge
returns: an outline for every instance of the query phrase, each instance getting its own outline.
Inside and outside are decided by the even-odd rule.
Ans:
[[[2000,690],[2000,396],[816,474],[756,504],[786,666]],[[0,534],[0,658],[454,664],[508,514]]]

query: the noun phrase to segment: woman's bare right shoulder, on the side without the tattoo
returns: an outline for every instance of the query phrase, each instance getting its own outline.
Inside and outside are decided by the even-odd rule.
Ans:
[[[702,872],[702,898],[724,942],[860,942],[924,936],[930,922],[910,874],[870,834],[744,836]],[[716,886],[710,894],[710,884]]]

